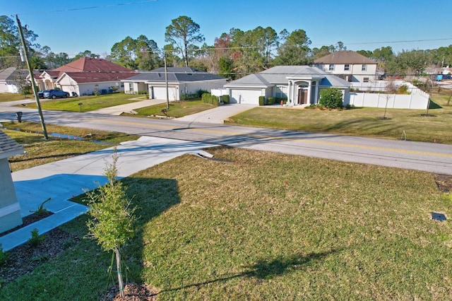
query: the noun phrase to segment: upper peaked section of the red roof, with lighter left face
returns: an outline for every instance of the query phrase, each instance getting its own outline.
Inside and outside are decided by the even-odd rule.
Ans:
[[[64,72],[133,72],[132,69],[119,66],[106,59],[93,59],[81,57],[76,61],[60,66],[52,71]]]

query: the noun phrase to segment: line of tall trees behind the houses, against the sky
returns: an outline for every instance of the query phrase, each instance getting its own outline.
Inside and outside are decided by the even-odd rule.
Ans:
[[[54,53],[50,47],[40,47],[37,35],[24,28],[25,39],[34,69],[54,69],[80,57],[99,58],[89,50],[69,58],[65,52]],[[191,66],[218,73],[227,78],[239,78],[278,65],[309,65],[327,54],[347,50],[343,42],[335,45],[311,47],[311,40],[302,29],[277,33],[273,28],[258,26],[251,30],[231,28],[213,41],[205,42],[200,26],[188,16],[179,16],[165,30],[166,45],[146,37],[127,36],[114,43],[105,59],[134,70],[148,71],[164,66]],[[0,69],[18,64],[20,48],[18,28],[8,16],[0,16]],[[438,49],[411,49],[395,53],[389,46],[358,50],[359,54],[378,63],[379,69],[389,75],[422,75],[427,66],[451,66],[452,45]]]

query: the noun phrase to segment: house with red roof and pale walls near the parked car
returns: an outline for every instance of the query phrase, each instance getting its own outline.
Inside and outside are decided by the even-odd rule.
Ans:
[[[124,91],[121,80],[137,74],[106,59],[82,57],[57,69],[44,71],[35,80],[40,90],[61,88],[72,95],[93,95],[95,89],[101,94]]]

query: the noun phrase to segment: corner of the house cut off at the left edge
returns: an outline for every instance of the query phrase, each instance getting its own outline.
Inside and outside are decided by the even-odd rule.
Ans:
[[[22,153],[23,147],[0,131],[0,232],[22,225],[20,205],[8,162],[8,157]]]

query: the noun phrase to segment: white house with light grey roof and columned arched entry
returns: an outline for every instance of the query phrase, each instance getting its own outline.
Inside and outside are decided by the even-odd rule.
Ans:
[[[258,105],[259,97],[287,98],[287,105],[316,105],[322,88],[340,88],[347,99],[350,83],[311,66],[275,66],[224,85],[231,103]]]

